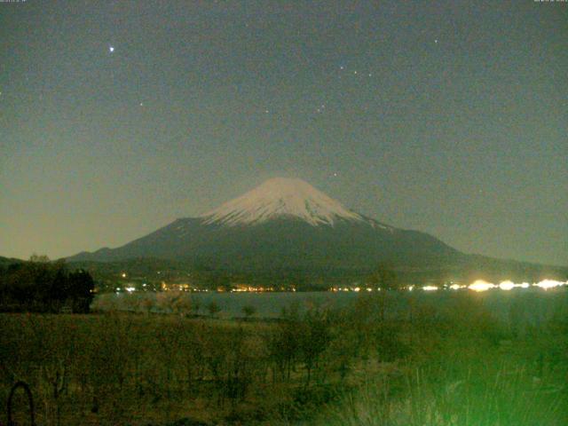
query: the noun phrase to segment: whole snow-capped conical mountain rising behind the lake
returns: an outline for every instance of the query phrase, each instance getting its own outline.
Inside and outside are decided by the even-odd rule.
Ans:
[[[346,209],[301,179],[272,178],[200,217],[180,218],[119,248],[68,257],[70,262],[153,258],[209,270],[352,275],[388,263],[398,270],[447,272],[489,264],[494,271],[528,264],[466,255],[437,238],[396,228]],[[529,268],[530,269],[530,268]],[[445,271],[445,272],[442,272]],[[440,273],[438,273],[440,272]]]

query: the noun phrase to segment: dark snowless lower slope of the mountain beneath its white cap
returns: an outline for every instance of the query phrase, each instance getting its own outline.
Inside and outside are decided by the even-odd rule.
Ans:
[[[161,257],[249,270],[361,268],[383,261],[418,265],[461,256],[428,234],[371,224],[340,222],[324,227],[276,218],[253,226],[226,226],[204,224],[200,218],[178,219],[121,248],[104,248],[69,260]]]

